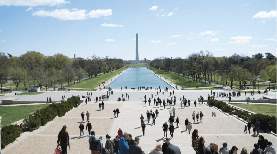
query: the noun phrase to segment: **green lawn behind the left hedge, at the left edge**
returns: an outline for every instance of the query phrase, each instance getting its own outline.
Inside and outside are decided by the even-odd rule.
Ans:
[[[0,116],[2,116],[1,128],[18,120],[22,120],[29,116],[29,114],[45,108],[46,106],[47,105],[0,106]]]

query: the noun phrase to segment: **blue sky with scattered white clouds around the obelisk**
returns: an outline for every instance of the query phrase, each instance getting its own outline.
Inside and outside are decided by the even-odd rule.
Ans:
[[[0,52],[69,58],[276,56],[276,0],[0,0]]]

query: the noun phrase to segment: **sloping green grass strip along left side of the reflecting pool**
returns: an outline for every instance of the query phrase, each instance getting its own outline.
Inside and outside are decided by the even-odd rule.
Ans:
[[[122,72],[124,69],[126,69],[126,68],[122,67],[122,68],[114,70],[112,72],[101,74],[100,76],[93,77],[93,78],[88,79],[88,80],[83,80],[83,82],[82,81],[78,82],[78,84],[75,83],[75,85],[74,84],[69,85],[68,87],[70,87],[70,88],[95,89],[96,87],[101,85],[102,82],[106,81],[106,79],[107,79],[107,81],[109,81],[112,77],[114,77],[114,75],[117,75],[119,72]],[[65,87],[67,87],[67,86],[65,86]]]

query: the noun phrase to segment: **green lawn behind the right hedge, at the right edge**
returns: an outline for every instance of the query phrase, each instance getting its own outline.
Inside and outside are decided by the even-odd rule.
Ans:
[[[269,116],[277,116],[276,105],[257,105],[257,104],[232,104],[242,109],[246,109],[251,112],[261,113]]]

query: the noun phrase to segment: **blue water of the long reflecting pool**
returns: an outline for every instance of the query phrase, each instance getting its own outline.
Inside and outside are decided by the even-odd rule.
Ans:
[[[122,73],[119,77],[117,77],[114,81],[108,84],[106,87],[111,87],[113,89],[127,89],[136,88],[140,86],[144,86],[145,88],[152,87],[155,88],[173,88],[162,79],[154,75],[148,69],[144,67],[140,68],[129,68],[124,73]]]

